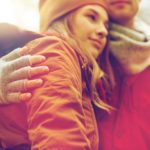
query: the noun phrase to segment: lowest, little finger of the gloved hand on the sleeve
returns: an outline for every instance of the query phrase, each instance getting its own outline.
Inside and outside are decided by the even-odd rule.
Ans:
[[[26,101],[29,100],[32,97],[31,93],[9,93],[7,95],[7,101],[5,102],[5,104],[9,104],[9,103],[18,103],[20,101]]]

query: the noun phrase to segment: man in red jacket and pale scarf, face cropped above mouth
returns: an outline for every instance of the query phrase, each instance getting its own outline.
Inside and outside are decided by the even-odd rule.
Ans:
[[[111,114],[96,110],[100,150],[150,149],[150,34],[136,20],[139,0],[107,0],[111,24],[111,61],[116,87]],[[143,28],[144,27],[144,28]]]

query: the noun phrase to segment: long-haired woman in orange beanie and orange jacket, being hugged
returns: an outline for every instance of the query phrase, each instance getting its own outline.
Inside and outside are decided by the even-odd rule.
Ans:
[[[112,83],[106,76],[111,68],[105,1],[41,0],[40,17],[41,31],[48,36],[27,44],[27,53],[44,55],[42,65],[50,71],[30,101],[0,109],[5,116],[0,117],[1,143],[19,150],[22,145],[32,150],[98,150],[92,103],[111,110],[101,100],[101,89]],[[7,109],[15,116],[10,118]]]

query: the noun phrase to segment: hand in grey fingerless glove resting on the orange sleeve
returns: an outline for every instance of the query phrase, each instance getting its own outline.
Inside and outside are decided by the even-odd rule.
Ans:
[[[0,59],[0,104],[30,99],[32,90],[43,83],[42,79],[31,78],[49,72],[47,66],[33,67],[43,62],[44,56],[20,56],[19,53],[16,49]]]

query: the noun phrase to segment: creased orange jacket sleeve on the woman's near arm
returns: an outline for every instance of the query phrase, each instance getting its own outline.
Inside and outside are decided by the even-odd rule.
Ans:
[[[43,45],[37,46],[42,47],[38,53],[47,57],[43,65],[48,65],[50,72],[42,76],[43,86],[27,102],[32,150],[89,150],[78,58],[61,42]]]

